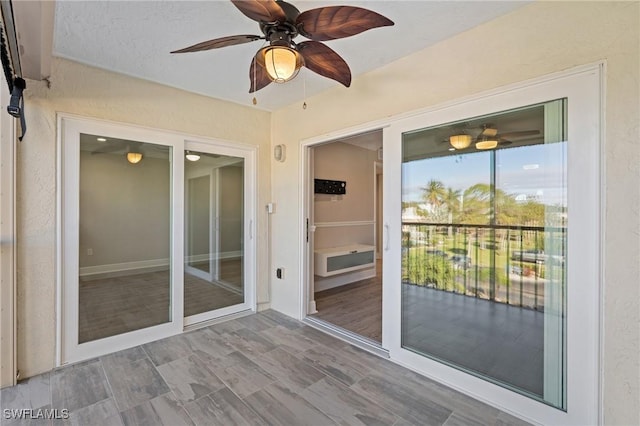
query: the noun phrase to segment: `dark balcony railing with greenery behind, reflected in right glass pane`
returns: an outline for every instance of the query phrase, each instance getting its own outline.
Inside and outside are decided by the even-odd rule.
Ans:
[[[403,222],[402,282],[544,310],[565,248],[566,228]]]

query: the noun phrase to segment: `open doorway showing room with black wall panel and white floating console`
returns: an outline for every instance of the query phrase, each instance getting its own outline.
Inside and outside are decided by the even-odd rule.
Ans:
[[[382,344],[382,131],[311,148],[312,318]]]

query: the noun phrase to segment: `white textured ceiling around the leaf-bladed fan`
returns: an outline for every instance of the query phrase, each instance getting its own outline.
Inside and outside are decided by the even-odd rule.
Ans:
[[[300,11],[329,5],[375,10],[395,22],[326,42],[358,75],[527,4],[523,1],[309,1]],[[230,1],[58,1],[55,56],[251,105],[249,64],[263,40],[207,52],[171,55],[194,43],[236,34],[261,35],[258,24]],[[296,41],[304,38],[299,36]],[[303,69],[296,79],[257,92],[258,108],[274,110],[339,83]],[[344,88],[344,90],[349,90]]]

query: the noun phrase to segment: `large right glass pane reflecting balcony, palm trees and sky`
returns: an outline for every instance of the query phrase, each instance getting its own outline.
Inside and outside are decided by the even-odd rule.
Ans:
[[[405,133],[402,165],[402,346],[562,409],[565,110]]]

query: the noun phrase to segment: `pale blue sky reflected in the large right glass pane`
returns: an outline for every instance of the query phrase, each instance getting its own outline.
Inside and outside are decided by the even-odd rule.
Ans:
[[[518,199],[536,197],[547,205],[566,205],[566,142],[498,149],[497,188]],[[421,201],[430,180],[464,191],[490,183],[491,151],[426,158],[402,165],[402,200]]]

